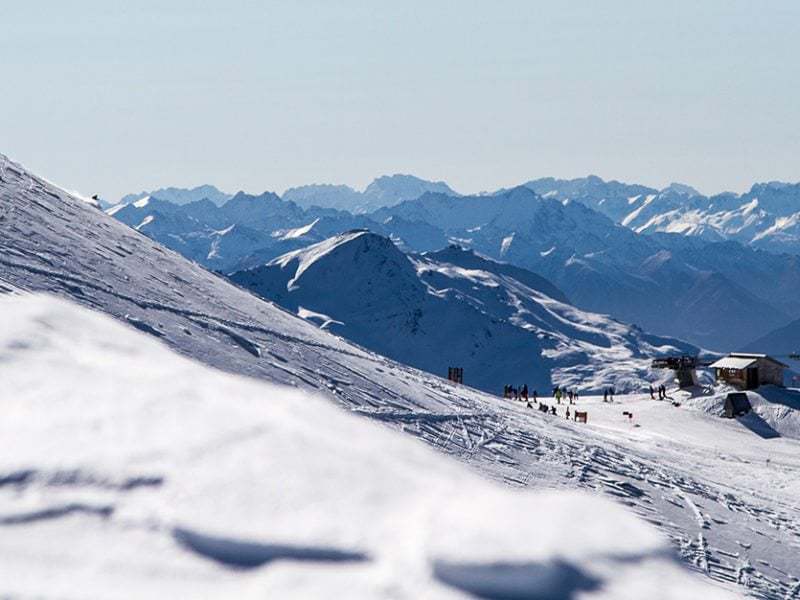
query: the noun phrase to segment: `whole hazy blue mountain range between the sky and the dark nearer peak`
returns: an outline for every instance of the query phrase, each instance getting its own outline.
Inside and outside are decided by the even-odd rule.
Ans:
[[[773,233],[753,233],[756,227],[748,238],[730,215],[747,220],[745,213],[757,213],[766,226],[764,215],[787,214],[795,194],[800,199],[798,186],[773,183],[707,198],[683,184],[658,191],[590,176],[459,196],[446,184],[393,176],[363,193],[307,186],[283,198],[240,192],[221,204],[182,205],[150,195],[107,212],[225,273],[355,228],[388,237],[406,252],[457,244],[541,274],[582,309],[730,350],[800,317],[800,258],[791,228],[778,235],[772,226]],[[358,210],[381,206],[357,213],[333,208],[353,201],[361,203]],[[744,207],[735,208],[739,202]],[[704,211],[711,225],[679,226],[692,211]],[[708,216],[713,211],[729,215],[727,229]],[[792,218],[780,217],[781,223]],[[788,252],[779,252],[783,247]]]

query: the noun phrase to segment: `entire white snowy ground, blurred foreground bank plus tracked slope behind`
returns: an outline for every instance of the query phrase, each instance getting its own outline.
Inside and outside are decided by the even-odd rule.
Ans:
[[[2,526],[0,595],[462,597],[565,573],[602,582],[576,598],[798,593],[790,438],[636,396],[582,397],[588,423],[575,423],[551,399],[557,416],[452,385],[321,331],[6,159],[0,290],[0,515],[22,521]],[[474,472],[618,506],[509,496]],[[664,540],[718,585],[695,588]],[[276,549],[367,558],[242,571],[220,545],[229,563]]]

